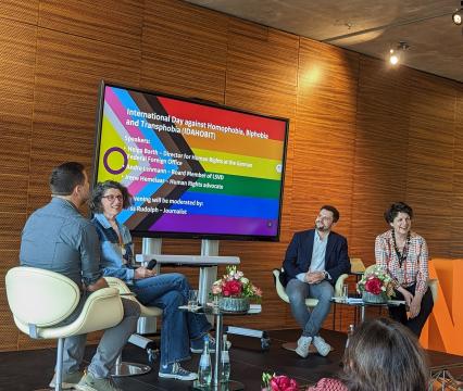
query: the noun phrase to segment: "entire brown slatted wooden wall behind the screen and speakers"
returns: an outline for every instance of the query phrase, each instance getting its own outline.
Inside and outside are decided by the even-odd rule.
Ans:
[[[383,211],[400,199],[415,209],[415,229],[431,255],[463,256],[462,84],[388,71],[380,61],[178,0],[4,0],[0,332],[8,338],[0,351],[54,345],[18,336],[3,277],[17,265],[27,215],[49,201],[51,168],[68,160],[90,168],[103,78],[290,119],[280,242],[221,243],[221,254],[239,255],[264,290],[263,314],[234,325],[296,327],[271,270],[293,231],[313,226],[323,203],[339,207],[336,230],[367,264],[374,237],[387,228]],[[200,241],[165,240],[163,252],[199,254]],[[163,272],[198,283],[196,268]],[[338,306],[336,328],[351,319]]]

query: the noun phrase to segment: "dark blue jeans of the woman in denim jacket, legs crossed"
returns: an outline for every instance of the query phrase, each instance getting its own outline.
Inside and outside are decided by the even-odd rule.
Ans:
[[[188,302],[190,285],[178,273],[135,280],[130,290],[147,306],[163,310],[161,328],[161,365],[190,358],[190,339],[201,338],[211,329],[204,315],[178,310]]]

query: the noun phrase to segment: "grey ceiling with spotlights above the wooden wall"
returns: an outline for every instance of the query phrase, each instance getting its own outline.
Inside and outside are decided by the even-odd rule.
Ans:
[[[463,81],[460,0],[187,0],[201,7],[385,59],[400,41],[403,64]]]

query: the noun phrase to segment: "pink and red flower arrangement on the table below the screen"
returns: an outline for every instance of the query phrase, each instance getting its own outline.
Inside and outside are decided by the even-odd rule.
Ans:
[[[222,311],[247,312],[250,300],[259,301],[262,291],[236,266],[227,266],[226,274],[212,285],[212,295],[218,298],[218,307]]]

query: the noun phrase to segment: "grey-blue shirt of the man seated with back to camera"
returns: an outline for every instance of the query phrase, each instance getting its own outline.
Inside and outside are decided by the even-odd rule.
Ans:
[[[100,244],[93,225],[73,203],[53,198],[27,219],[20,261],[60,273],[77,286],[95,283],[101,276]]]

